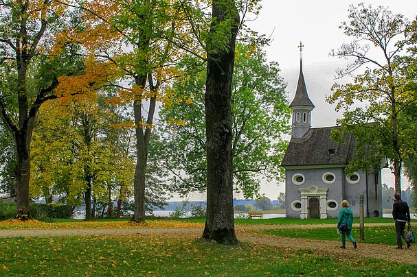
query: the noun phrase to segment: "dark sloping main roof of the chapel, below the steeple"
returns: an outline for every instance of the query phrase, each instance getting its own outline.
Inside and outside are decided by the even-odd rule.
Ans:
[[[354,138],[346,134],[345,143],[336,143],[330,134],[339,128],[311,128],[302,138],[291,138],[281,165],[348,165],[354,153]]]

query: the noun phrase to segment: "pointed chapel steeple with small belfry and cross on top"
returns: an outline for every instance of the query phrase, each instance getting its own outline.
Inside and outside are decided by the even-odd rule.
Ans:
[[[295,96],[290,104],[293,110],[293,123],[291,136],[295,139],[300,139],[311,128],[311,111],[315,108],[313,102],[308,97],[306,82],[302,72],[302,43],[300,42],[300,75],[298,76],[297,90]]]

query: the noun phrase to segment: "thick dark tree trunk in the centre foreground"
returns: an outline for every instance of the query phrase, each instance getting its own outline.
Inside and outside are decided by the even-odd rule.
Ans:
[[[234,230],[232,108],[231,91],[234,49],[239,15],[233,0],[214,0],[213,34],[216,27],[232,22],[228,49],[207,41],[205,128],[207,138],[207,217],[203,239],[218,243],[238,243]],[[230,20],[232,19],[232,20]]]

